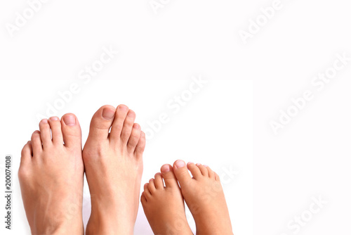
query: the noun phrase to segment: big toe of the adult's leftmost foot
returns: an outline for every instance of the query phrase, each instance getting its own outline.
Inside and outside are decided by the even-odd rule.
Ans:
[[[67,148],[81,148],[81,127],[76,115],[67,113],[61,118],[62,136]]]

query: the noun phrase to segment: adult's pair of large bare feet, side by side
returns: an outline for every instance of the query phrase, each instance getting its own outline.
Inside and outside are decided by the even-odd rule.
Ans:
[[[32,234],[84,234],[84,172],[91,193],[86,234],[133,234],[145,148],[134,120],[127,106],[102,106],[83,151],[75,115],[41,120],[18,170]]]

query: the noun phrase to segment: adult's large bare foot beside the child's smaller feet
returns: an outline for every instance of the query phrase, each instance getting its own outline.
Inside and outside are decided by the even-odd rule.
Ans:
[[[145,148],[145,134],[134,120],[124,105],[102,106],[91,120],[83,150],[91,192],[86,234],[133,234]]]

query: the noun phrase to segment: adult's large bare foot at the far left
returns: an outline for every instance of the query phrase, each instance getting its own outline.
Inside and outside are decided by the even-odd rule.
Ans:
[[[84,234],[84,164],[78,120],[66,114],[61,122],[57,117],[41,120],[39,128],[22,149],[18,170],[32,234]]]

